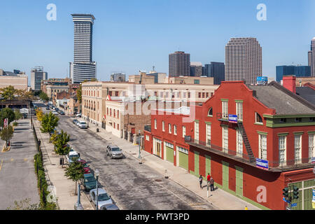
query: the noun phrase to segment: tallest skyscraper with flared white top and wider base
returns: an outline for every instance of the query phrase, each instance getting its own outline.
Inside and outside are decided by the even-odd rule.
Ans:
[[[74,55],[70,62],[73,83],[96,78],[96,62],[92,61],[92,33],[94,15],[71,14],[74,22]]]

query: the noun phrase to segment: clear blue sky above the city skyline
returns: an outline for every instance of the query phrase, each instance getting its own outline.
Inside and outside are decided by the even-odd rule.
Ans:
[[[55,3],[57,20],[46,6]],[[258,21],[259,3],[267,20]],[[307,65],[315,36],[314,0],[28,0],[0,1],[0,68],[30,74],[44,66],[49,78],[64,78],[73,61],[71,13],[95,16],[93,60],[97,78],[139,70],[168,73],[168,55],[190,53],[192,62],[225,62],[231,37],[255,37],[262,46],[262,72],[277,65]]]

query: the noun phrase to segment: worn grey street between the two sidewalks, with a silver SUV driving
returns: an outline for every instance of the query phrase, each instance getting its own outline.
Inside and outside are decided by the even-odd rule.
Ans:
[[[45,109],[43,109],[45,111]],[[99,181],[120,209],[127,210],[214,210],[211,204],[186,188],[155,172],[132,155],[111,160],[106,140],[90,130],[80,130],[68,116],[59,116],[59,130],[70,135],[69,144],[92,169],[99,169]],[[126,151],[126,150],[125,150]]]

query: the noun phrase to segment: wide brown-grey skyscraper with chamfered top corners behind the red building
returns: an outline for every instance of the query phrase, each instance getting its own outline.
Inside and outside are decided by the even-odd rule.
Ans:
[[[225,80],[257,83],[262,76],[262,48],[256,38],[231,38],[225,46]]]

